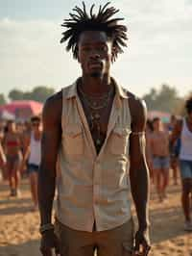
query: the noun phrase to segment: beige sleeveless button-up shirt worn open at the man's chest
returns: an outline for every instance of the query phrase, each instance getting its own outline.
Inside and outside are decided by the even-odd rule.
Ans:
[[[92,232],[115,228],[131,216],[129,145],[131,113],[126,90],[115,84],[106,140],[97,155],[77,93],[62,90],[61,143],[57,163],[56,218]]]

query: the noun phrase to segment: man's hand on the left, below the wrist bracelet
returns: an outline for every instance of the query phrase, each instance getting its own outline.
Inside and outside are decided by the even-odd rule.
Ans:
[[[54,255],[52,249],[55,250]],[[60,244],[54,230],[47,230],[42,234],[40,251],[43,256],[60,256]]]

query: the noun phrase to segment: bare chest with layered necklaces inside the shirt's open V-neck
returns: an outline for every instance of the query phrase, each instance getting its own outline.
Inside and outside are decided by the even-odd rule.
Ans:
[[[101,123],[102,116],[106,114],[108,103],[113,94],[113,87],[110,87],[107,93],[103,95],[88,95],[87,93],[79,87],[79,92],[84,104],[85,109],[87,110],[87,121],[90,127],[90,132],[96,132],[95,136],[95,147],[97,153],[100,151],[103,140],[101,133]]]

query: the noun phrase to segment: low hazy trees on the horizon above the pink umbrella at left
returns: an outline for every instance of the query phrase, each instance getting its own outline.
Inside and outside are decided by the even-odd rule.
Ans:
[[[45,86],[36,87],[32,91],[11,90],[9,98],[11,100],[36,100],[45,102],[45,100],[55,92],[54,89]]]

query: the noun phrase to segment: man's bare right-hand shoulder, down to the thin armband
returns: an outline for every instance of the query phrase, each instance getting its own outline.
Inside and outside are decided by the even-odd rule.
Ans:
[[[147,107],[145,101],[130,91],[127,91],[127,94],[129,96],[128,100],[132,116],[132,126],[135,124],[138,126],[139,130],[141,127],[143,127],[143,130],[147,120]]]

